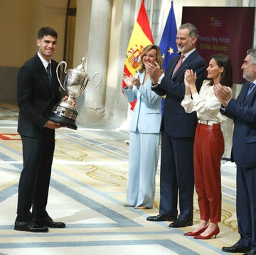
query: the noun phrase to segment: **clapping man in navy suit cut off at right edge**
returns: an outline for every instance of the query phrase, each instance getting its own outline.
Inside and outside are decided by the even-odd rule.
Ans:
[[[256,49],[247,50],[242,64],[242,77],[247,80],[237,99],[220,85],[215,95],[223,108],[221,112],[234,121],[231,158],[237,165],[238,232],[240,239],[226,252],[245,252],[256,255]]]

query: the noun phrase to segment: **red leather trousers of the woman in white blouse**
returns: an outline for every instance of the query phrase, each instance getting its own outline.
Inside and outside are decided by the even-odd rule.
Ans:
[[[195,186],[201,219],[221,220],[220,161],[224,153],[220,124],[197,124],[193,148]]]

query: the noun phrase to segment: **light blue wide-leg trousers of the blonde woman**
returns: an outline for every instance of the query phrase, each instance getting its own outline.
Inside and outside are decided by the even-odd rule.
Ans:
[[[127,203],[154,206],[155,176],[159,160],[159,134],[130,132]]]

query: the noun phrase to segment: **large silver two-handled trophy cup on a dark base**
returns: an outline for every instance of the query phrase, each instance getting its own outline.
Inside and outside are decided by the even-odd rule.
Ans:
[[[65,80],[63,85],[61,84],[60,78],[58,76],[58,67],[60,67],[62,64],[65,65]],[[95,74],[92,75],[92,78],[90,79],[85,72],[85,58],[82,58],[81,64],[78,65],[78,67],[70,69],[67,72],[66,68],[67,63],[65,63],[65,61],[61,61],[56,67],[56,74],[60,86],[68,94],[68,100],[55,104],[49,119],[51,121],[58,122],[63,126],[67,126],[70,129],[76,130],[78,129],[78,126],[75,124],[75,119],[78,116],[78,109],[73,107],[72,101],[75,97],[78,97],[81,94],[85,94],[85,87],[87,86],[87,83],[90,80],[93,80],[96,75],[100,75],[100,81],[95,87],[92,87],[92,89],[95,89],[97,86],[99,86],[100,82],[102,82],[102,75],[100,72],[95,72]],[[86,91],[86,93],[92,91],[92,89]]]

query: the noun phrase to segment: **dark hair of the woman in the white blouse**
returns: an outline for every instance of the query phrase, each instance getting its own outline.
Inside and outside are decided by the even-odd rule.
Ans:
[[[218,67],[223,67],[223,72],[220,74],[220,84],[227,87],[233,87],[233,67],[230,61],[225,54],[215,54],[209,58],[214,59]],[[213,85],[213,79],[210,79],[209,85]]]

